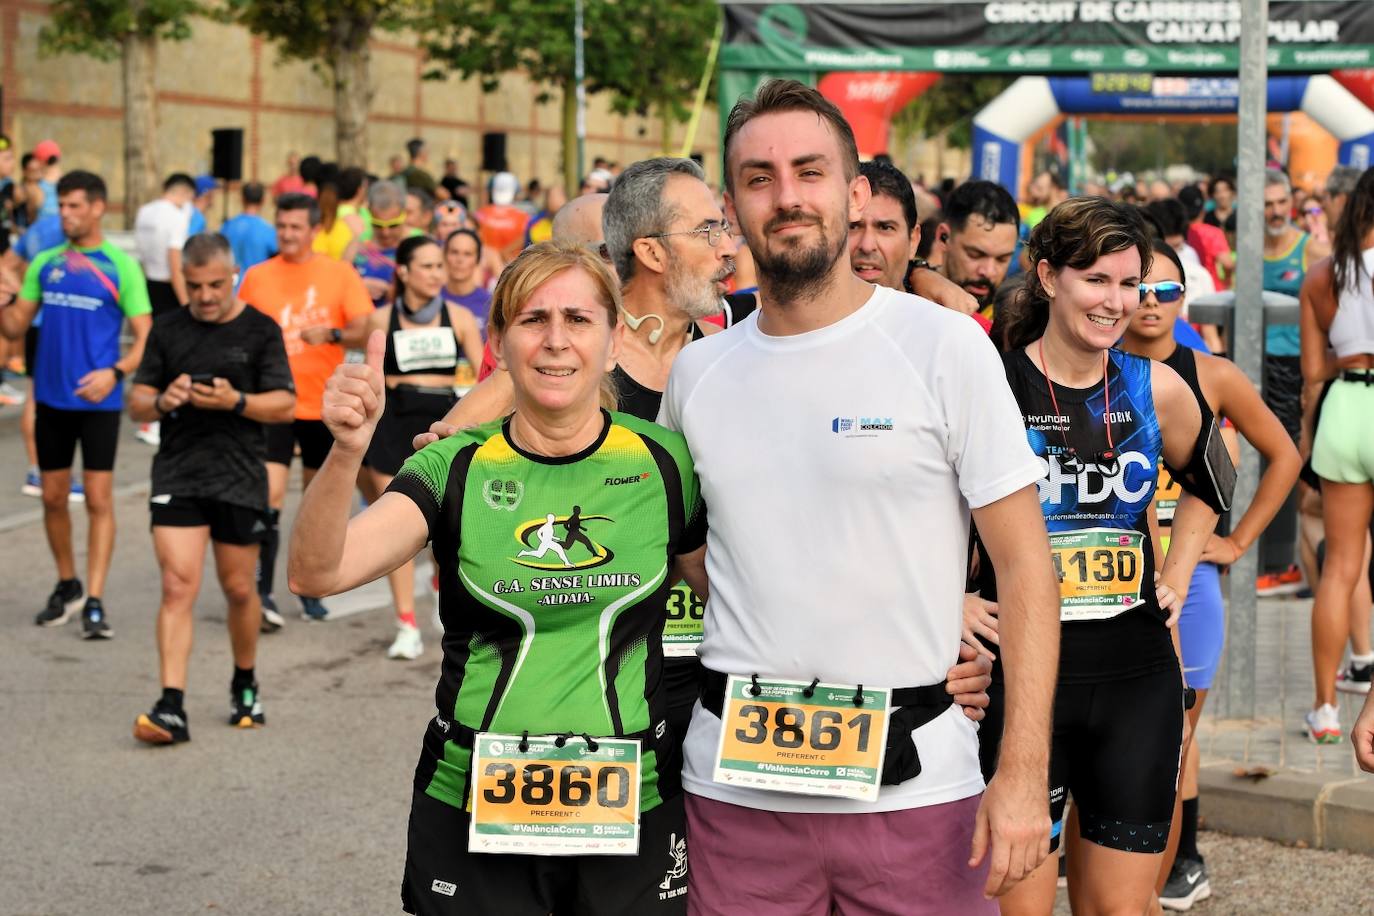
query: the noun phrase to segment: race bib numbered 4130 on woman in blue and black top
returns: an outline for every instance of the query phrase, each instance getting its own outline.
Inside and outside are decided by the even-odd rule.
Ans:
[[[1059,619],[1106,621],[1140,603],[1145,536],[1116,527],[1051,531]]]

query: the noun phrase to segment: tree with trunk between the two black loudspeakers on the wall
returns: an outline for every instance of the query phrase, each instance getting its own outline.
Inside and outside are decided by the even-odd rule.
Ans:
[[[425,0],[227,0],[228,18],[276,44],[286,58],[319,65],[334,91],[334,146],[341,166],[367,168],[374,29],[411,25]]]

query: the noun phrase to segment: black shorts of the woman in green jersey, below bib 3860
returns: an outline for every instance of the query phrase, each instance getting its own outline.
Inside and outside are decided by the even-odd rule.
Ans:
[[[639,816],[638,856],[504,856],[467,851],[467,812],[416,791],[401,906],[419,916],[683,916],[683,797]]]

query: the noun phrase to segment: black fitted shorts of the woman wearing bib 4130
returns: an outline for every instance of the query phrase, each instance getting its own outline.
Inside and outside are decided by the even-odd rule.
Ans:
[[[996,770],[1004,685],[978,726],[982,776]],[[1103,684],[1059,684],[1050,744],[1050,847],[1058,849],[1068,795],[1084,839],[1127,853],[1162,853],[1169,839],[1183,746],[1183,681],[1176,669]]]

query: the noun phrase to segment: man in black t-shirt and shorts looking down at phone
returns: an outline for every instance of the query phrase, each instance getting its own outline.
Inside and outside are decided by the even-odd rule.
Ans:
[[[282,330],[235,297],[228,240],[191,236],[183,272],[190,302],[158,319],[129,394],[135,420],[162,422],[150,500],[162,569],[162,695],[133,725],[133,736],[153,744],[191,737],[183,698],[206,541],[228,602],[229,725],[265,722],[254,674],[261,604],[253,581],[267,534],[262,424],[280,423],[295,408]]]

